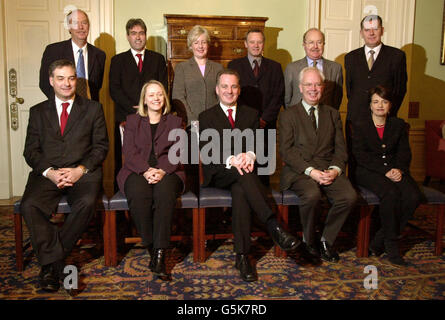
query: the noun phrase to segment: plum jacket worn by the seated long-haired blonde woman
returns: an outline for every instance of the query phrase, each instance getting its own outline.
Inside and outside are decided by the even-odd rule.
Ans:
[[[159,169],[167,174],[177,174],[185,185],[185,173],[182,164],[172,164],[168,160],[168,151],[175,141],[168,141],[168,135],[173,129],[181,129],[181,118],[167,114],[161,117],[156,136],[154,138],[155,156],[158,160]],[[122,152],[125,163],[117,176],[119,189],[124,192],[127,177],[135,172],[143,174],[150,168],[148,160],[153,148],[150,122],[148,117],[141,117],[138,114],[131,114],[127,117],[124,131],[124,143]]]

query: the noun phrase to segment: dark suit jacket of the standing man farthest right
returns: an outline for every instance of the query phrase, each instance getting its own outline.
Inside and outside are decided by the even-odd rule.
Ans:
[[[392,90],[391,116],[397,116],[406,93],[406,56],[402,50],[382,45],[379,55],[369,70],[364,47],[345,56],[347,119],[353,122],[366,118],[369,112],[368,91],[382,85]]]

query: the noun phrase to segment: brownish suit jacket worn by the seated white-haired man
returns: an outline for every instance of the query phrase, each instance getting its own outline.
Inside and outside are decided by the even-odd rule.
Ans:
[[[297,179],[306,178],[304,171],[308,167],[326,170],[337,166],[345,171],[348,155],[337,110],[318,105],[317,133],[301,102],[283,111],[278,123],[280,155],[285,163],[280,179],[282,190]]]

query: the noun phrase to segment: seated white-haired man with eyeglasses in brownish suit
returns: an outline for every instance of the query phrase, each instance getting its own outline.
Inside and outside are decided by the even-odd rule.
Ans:
[[[334,241],[357,195],[345,175],[348,155],[340,114],[320,103],[323,82],[319,69],[304,68],[299,78],[303,99],[280,116],[280,154],[285,163],[280,182],[282,190],[293,190],[301,200],[300,219],[307,251],[314,257],[337,262]],[[315,226],[322,192],[332,207],[319,240]]]

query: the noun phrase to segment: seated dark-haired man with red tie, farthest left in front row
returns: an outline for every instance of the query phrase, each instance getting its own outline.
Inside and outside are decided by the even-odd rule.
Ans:
[[[108,136],[102,106],[75,94],[74,64],[56,60],[49,72],[55,94],[30,109],[23,155],[32,171],[20,212],[42,266],[40,286],[57,291],[63,260],[95,211]],[[71,213],[59,227],[50,218],[63,195],[67,196]]]

